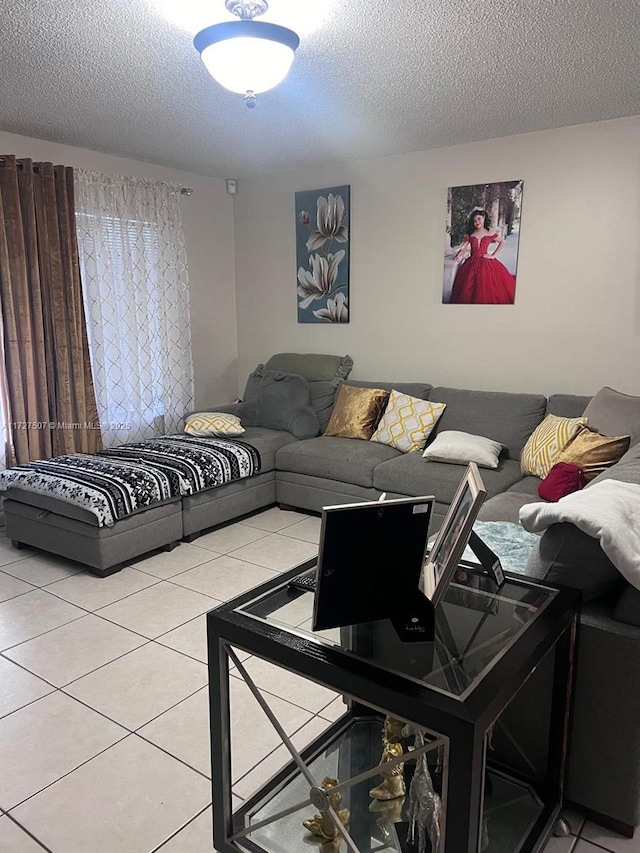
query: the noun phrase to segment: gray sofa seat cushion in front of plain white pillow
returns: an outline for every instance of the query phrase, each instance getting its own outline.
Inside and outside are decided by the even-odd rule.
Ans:
[[[443,415],[444,417],[444,415]],[[381,492],[399,492],[403,495],[434,495],[442,503],[451,503],[465,469],[461,465],[428,462],[419,453],[405,453],[383,462],[374,472],[373,485]],[[508,489],[521,479],[520,465],[505,459],[496,469],[482,469],[482,480],[487,495]]]

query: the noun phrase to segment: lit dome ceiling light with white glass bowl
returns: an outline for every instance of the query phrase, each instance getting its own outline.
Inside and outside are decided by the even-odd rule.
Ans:
[[[267,11],[267,0],[225,0],[225,6],[240,20],[213,24],[193,43],[214,80],[244,95],[245,104],[253,109],[256,95],[287,76],[300,39],[286,27],[253,20]]]

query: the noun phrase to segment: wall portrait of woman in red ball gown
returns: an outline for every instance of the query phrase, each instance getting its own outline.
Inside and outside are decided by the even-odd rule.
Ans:
[[[522,181],[449,187],[442,301],[513,305]]]

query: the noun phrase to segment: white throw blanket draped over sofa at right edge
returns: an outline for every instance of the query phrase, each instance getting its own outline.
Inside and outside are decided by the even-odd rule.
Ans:
[[[557,503],[526,504],[520,522],[540,533],[568,521],[600,540],[600,547],[625,579],[640,589],[640,486],[603,480],[560,498]]]

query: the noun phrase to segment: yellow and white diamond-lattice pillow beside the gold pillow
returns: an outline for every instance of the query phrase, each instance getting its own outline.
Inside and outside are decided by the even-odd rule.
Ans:
[[[446,403],[432,403],[392,391],[371,441],[388,444],[403,453],[422,450],[445,406]]]

